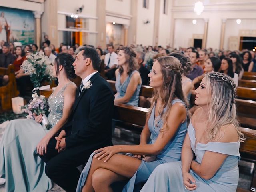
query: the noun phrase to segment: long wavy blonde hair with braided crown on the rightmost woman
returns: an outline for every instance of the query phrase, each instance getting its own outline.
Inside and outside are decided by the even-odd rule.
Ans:
[[[234,125],[239,141],[244,140],[240,125],[236,119],[236,84],[230,76],[213,72],[205,75],[208,95],[212,95],[208,104],[207,141],[218,141],[224,135],[222,127]]]

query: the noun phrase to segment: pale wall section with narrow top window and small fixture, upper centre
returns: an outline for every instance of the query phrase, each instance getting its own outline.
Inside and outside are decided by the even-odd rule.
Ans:
[[[149,0],[148,9],[143,8],[143,0],[138,0],[137,9],[138,10],[137,10],[136,44],[152,46],[153,36],[154,36],[155,0]],[[144,24],[146,20],[149,20],[150,23]]]

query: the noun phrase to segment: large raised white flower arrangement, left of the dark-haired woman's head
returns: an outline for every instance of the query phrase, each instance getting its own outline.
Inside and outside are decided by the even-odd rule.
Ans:
[[[35,88],[40,87],[42,81],[51,81],[54,79],[52,74],[52,63],[44,52],[33,52],[27,56],[20,69],[25,74],[30,75],[30,80],[34,84]]]

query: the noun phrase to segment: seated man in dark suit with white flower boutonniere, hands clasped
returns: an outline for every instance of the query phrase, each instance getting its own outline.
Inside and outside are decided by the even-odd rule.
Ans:
[[[111,146],[114,94],[98,73],[100,57],[92,48],[82,48],[74,62],[82,84],[76,93],[73,112],[58,137],[52,138],[47,153],[46,175],[68,192],[74,192],[80,177],[77,166],[87,162],[90,154]]]

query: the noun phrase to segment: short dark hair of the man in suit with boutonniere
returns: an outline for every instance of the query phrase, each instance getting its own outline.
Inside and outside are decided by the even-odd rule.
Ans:
[[[80,51],[83,52],[84,59],[90,58],[92,61],[92,67],[94,70],[99,70],[100,68],[100,56],[97,53],[96,49],[90,48],[88,46],[80,48]]]

